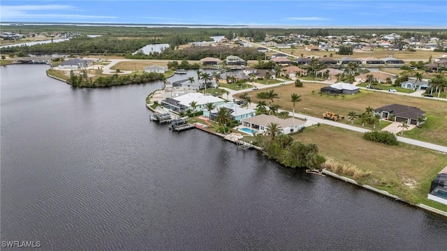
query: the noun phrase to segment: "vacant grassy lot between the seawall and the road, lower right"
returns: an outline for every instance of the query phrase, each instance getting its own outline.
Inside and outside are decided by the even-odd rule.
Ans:
[[[326,125],[306,128],[293,138],[314,142],[325,158],[371,172],[369,176],[360,178],[360,183],[447,211],[446,205],[425,199],[430,182],[447,165],[445,154],[403,143],[386,146],[369,142],[362,139],[361,133]]]

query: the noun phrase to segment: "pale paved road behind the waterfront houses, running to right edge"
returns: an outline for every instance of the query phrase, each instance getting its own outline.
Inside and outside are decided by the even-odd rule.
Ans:
[[[286,84],[293,84],[293,83],[294,83],[293,81],[286,82]],[[270,88],[270,87],[273,87],[273,86],[279,86],[279,84],[265,85],[265,84],[256,84],[256,83],[254,85],[257,86],[258,89],[260,89],[260,90],[261,89],[267,89],[267,88]],[[232,97],[232,98],[235,98],[235,99],[239,98],[239,95],[237,95],[237,94],[244,93],[244,92],[247,92],[247,91],[251,91],[251,89],[244,89],[244,90],[237,90],[237,91],[235,91],[235,90],[232,90],[232,89],[223,88],[221,86],[219,86],[219,88],[220,89],[225,89],[226,91],[229,91],[230,93],[228,94],[228,96],[230,98]],[[249,108],[250,109],[255,109],[256,108],[256,104],[250,104]],[[283,111],[284,110],[279,109],[278,112],[283,112]],[[286,112],[288,112],[288,111],[286,111]],[[290,116],[293,116],[292,112],[288,112],[288,114],[290,114]],[[321,124],[330,125],[330,126],[337,126],[338,128],[344,128],[344,129],[347,129],[347,130],[353,130],[355,132],[361,132],[361,133],[370,131],[370,130],[368,130],[366,128],[360,128],[358,126],[351,126],[351,125],[347,125],[347,124],[344,124],[344,123],[330,121],[330,120],[327,120],[327,119],[321,119],[321,118],[317,118],[317,117],[309,116],[309,115],[305,115],[305,114],[295,113],[295,118],[305,119],[306,120],[305,126],[313,126],[313,125],[315,125],[317,123],[321,123]],[[409,138],[400,137],[400,136],[397,136],[397,140],[400,141],[400,142],[406,143],[406,144],[411,144],[411,145],[414,145],[414,146],[420,146],[420,147],[423,147],[423,148],[426,148],[426,149],[432,149],[434,151],[440,151],[440,152],[443,152],[443,153],[447,153],[447,146],[440,146],[440,145],[437,145],[437,144],[421,142],[421,141],[416,140],[416,139],[409,139]]]

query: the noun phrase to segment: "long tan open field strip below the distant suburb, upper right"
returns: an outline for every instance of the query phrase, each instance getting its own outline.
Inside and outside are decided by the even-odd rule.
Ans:
[[[281,52],[286,52],[288,54],[293,54],[294,56],[300,56],[303,54],[304,56],[330,56],[332,54],[332,57],[334,59],[341,59],[342,57],[346,55],[337,55],[335,52],[307,52],[305,50],[305,47],[297,47],[295,49],[281,49]],[[277,52],[268,52],[268,56],[271,56],[272,54],[276,54]],[[393,56],[396,59],[402,59],[405,61],[428,61],[429,57],[432,56],[432,59],[436,59],[437,57],[446,54],[445,52],[432,52],[432,51],[426,51],[426,50],[416,50],[416,52],[409,52],[409,51],[392,51],[387,49],[376,49],[372,52],[357,52],[354,51],[352,55],[349,55],[349,57],[352,58],[365,58],[369,56],[373,56],[377,59],[382,59],[388,56]]]

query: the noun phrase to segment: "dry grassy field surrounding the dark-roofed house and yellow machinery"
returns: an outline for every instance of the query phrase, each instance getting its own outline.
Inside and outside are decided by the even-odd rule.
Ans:
[[[413,129],[405,132],[405,137],[419,139],[433,144],[441,144],[447,146],[447,102],[439,100],[430,100],[428,98],[415,98],[411,96],[400,96],[394,93],[380,93],[376,91],[361,90],[356,95],[345,96],[328,96],[318,94],[321,87],[325,84],[304,83],[301,88],[291,84],[285,86],[272,87],[274,93],[277,93],[280,100],[281,109],[292,111],[293,103],[290,101],[291,93],[297,93],[301,96],[302,101],[296,103],[295,112],[301,114],[309,114],[321,118],[323,112],[330,111],[346,116],[353,111],[357,114],[365,112],[366,107],[377,108],[383,105],[397,103],[401,105],[410,105],[418,107],[426,112],[427,123],[422,129]],[[256,103],[260,99],[256,98],[256,93],[260,91],[268,91],[263,89],[258,91],[249,91],[251,102]],[[312,93],[314,91],[314,93]],[[268,100],[266,100],[268,101]],[[347,116],[346,116],[347,117]],[[342,123],[350,123],[342,121]],[[358,120],[355,124],[358,124]],[[367,125],[365,125],[367,128]],[[416,132],[416,130],[420,132]]]

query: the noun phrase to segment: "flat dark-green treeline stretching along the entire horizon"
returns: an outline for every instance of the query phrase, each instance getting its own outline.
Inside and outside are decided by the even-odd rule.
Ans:
[[[138,24],[135,24],[138,25]],[[437,36],[438,38],[447,38],[447,29],[259,29],[249,28],[246,26],[240,26],[240,28],[186,28],[186,27],[146,27],[141,24],[138,27],[129,26],[79,26],[79,25],[20,25],[20,26],[8,26],[2,25],[1,31],[13,31],[22,34],[27,33],[69,33],[79,31],[83,35],[95,34],[103,36],[115,36],[115,37],[129,37],[129,38],[171,38],[173,34],[186,35],[193,38],[198,36],[202,38],[209,38],[209,36],[226,36],[231,39],[230,34],[235,33],[238,36],[250,36],[252,38],[263,38],[263,34],[269,35],[288,35],[290,33],[304,34],[306,36],[342,36],[342,35],[365,35],[375,33],[376,35],[384,35],[390,33],[398,33],[401,36]],[[203,41],[204,39],[198,39],[195,41]],[[257,39],[255,39],[257,40]]]

